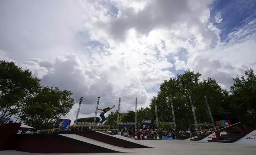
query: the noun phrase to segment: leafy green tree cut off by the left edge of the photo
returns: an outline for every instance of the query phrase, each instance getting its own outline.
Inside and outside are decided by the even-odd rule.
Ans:
[[[22,70],[15,62],[0,61],[0,118],[19,112],[27,96],[41,88],[40,79],[32,77],[29,70]]]

